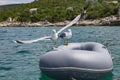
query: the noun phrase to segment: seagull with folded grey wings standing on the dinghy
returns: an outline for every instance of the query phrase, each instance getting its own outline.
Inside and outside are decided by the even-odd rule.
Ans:
[[[64,44],[68,45],[70,38],[72,37],[72,31],[71,29],[68,29],[68,32],[63,32],[59,36],[60,38],[64,39]],[[67,40],[67,41],[65,41]]]

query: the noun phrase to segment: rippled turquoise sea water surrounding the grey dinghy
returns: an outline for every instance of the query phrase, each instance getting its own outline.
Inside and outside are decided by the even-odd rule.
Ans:
[[[41,73],[39,60],[51,49],[51,41],[15,44],[12,40],[29,40],[51,34],[60,27],[0,28],[0,80],[53,80]],[[71,42],[99,42],[107,45],[114,57],[112,73],[100,80],[120,80],[120,27],[70,27]],[[63,40],[58,40],[58,45]]]

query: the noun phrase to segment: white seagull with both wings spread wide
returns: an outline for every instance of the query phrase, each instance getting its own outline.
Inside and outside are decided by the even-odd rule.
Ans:
[[[86,10],[83,11],[83,13],[85,13]],[[65,30],[66,28],[72,26],[73,24],[77,23],[84,15],[83,13],[79,14],[77,17],[75,17],[68,25],[64,26],[63,28],[61,28],[59,31],[56,31],[55,29],[52,30],[52,35],[50,36],[45,36],[45,37],[41,37],[38,39],[33,39],[33,40],[14,40],[15,43],[19,43],[19,44],[31,44],[34,42],[38,42],[38,41],[42,41],[42,40],[52,40],[53,45],[56,45],[56,41],[58,39],[58,35]]]

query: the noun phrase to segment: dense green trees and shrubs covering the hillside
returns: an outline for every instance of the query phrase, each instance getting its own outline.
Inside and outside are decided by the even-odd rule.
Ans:
[[[112,0],[35,0],[27,4],[1,6],[0,22],[9,17],[20,22],[72,20],[88,3],[87,19],[117,15],[119,3],[108,3],[110,1]],[[31,8],[37,8],[37,12],[30,13]]]

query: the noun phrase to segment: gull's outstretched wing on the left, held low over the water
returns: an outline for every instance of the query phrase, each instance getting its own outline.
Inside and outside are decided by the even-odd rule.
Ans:
[[[30,43],[33,43],[33,42],[42,41],[42,40],[50,40],[50,39],[51,39],[51,36],[45,36],[45,37],[41,37],[41,38],[38,38],[38,39],[26,40],[26,41],[14,40],[14,42],[19,43],[19,44],[30,44]]]

